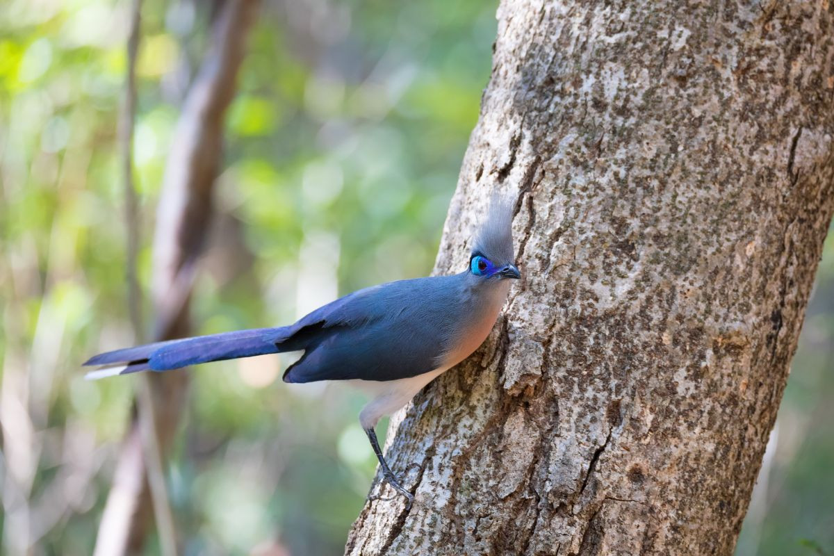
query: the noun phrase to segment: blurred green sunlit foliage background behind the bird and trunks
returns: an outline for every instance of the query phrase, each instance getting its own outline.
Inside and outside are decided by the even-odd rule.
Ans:
[[[496,5],[264,1],[226,118],[194,333],[290,323],[430,272]],[[212,14],[147,0],[142,16],[133,157],[147,292],[166,157]],[[79,368],[133,343],[117,144],[129,20],[123,1],[0,2],[3,553],[93,552],[131,419],[135,378],[86,382]],[[738,554],[834,553],[832,293],[829,241]],[[376,463],[364,398],[288,387],[288,363],[193,372],[165,468],[185,553],[342,553]],[[158,553],[153,538],[145,552]]]

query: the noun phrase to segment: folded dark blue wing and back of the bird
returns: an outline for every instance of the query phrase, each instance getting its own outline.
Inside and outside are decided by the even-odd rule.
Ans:
[[[284,342],[304,348],[284,381],[395,380],[434,370],[460,314],[450,278],[455,277],[382,284],[310,313]]]

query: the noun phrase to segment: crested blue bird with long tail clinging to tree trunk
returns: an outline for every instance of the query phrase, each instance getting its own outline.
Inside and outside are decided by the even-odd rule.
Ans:
[[[493,201],[465,272],[384,283],[350,293],[314,310],[297,323],[195,338],[148,343],[90,358],[101,366],[87,378],[155,371],[198,363],[304,351],[284,372],[284,382],[344,380],[371,396],[359,413],[385,480],[407,498],[385,462],[374,428],[447,369],[484,342],[520,278],[515,266],[510,203]]]

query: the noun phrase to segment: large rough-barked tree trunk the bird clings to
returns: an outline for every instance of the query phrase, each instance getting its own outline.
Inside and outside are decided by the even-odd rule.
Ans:
[[[501,3],[436,271],[517,189],[524,277],[346,553],[732,553],[834,208],[832,7]]]

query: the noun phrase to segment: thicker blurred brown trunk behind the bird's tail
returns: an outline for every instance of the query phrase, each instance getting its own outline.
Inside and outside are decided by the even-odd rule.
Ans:
[[[222,158],[224,114],[234,98],[236,77],[257,5],[257,0],[223,3],[214,22],[209,51],[173,134],[153,242],[154,339],[180,338],[189,333],[188,298],[212,216],[214,180]],[[139,413],[143,417],[133,419],[119,453],[98,532],[97,553],[133,553],[142,548],[150,517],[149,503],[153,502],[149,490],[154,491],[154,476],[163,481],[163,457],[173,443],[187,386],[187,373],[145,375],[145,388],[139,396]],[[158,473],[149,473],[150,489],[144,477],[143,439],[144,443],[155,443],[155,452],[161,454]],[[172,521],[166,524],[165,519],[160,520],[159,512],[164,512],[164,508],[157,510],[160,538],[168,533],[173,538]],[[168,533],[161,530],[163,526],[169,528]]]

